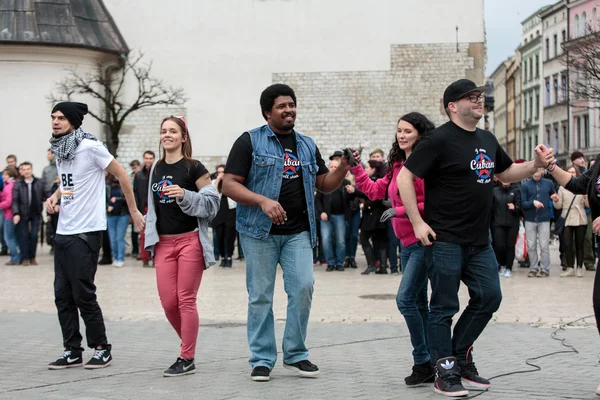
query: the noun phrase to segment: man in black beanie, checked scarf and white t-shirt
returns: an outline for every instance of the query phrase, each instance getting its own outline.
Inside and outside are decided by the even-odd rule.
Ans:
[[[46,201],[46,210],[53,214],[60,207],[54,238],[54,296],[65,349],[49,369],[83,365],[78,312],[85,322],[87,344],[94,349],[84,368],[103,368],[112,362],[94,285],[102,232],[106,230],[104,170],[121,183],[133,223],[140,230],[145,225],[127,172],[102,142],[81,129],[85,114],[86,104],[64,102],[55,105],[51,115],[50,143],[60,186]]]

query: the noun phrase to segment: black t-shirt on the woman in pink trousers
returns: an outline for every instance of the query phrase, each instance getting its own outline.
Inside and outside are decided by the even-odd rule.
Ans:
[[[173,164],[159,162],[150,177],[152,179],[152,197],[156,209],[156,230],[159,235],[177,235],[192,232],[198,228],[196,217],[187,215],[177,204],[175,198],[163,194],[163,189],[170,185],[197,192],[196,181],[208,171],[197,160],[182,158]]]

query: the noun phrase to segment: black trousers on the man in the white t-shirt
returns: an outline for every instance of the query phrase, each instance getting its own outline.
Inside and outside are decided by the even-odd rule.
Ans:
[[[85,322],[88,346],[108,344],[94,285],[101,245],[102,232],[54,238],[54,302],[65,347],[82,349],[77,310]]]

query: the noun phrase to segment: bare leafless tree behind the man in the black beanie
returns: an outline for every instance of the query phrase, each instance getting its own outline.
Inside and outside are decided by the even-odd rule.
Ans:
[[[161,79],[151,75],[152,63],[143,62],[144,53],[133,52],[121,60],[120,66],[105,68],[98,64],[93,72],[81,74],[76,68],[68,69],[67,77],[57,84],[56,94],[48,96],[52,103],[71,101],[77,95],[89,95],[102,102],[104,110],[92,110],[89,114],[106,125],[107,146],[116,155],[119,133],[127,117],[142,108],[156,105],[183,105],[187,98],[183,88],[167,86]],[[137,85],[131,102],[123,100],[125,86],[129,81]],[[126,83],[127,82],[127,83]]]

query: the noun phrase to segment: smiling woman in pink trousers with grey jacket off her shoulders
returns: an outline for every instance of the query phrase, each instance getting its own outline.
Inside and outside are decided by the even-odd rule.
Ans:
[[[196,298],[204,269],[214,264],[208,221],[219,196],[204,165],[192,158],[184,117],[163,120],[160,145],[162,158],[150,171],[145,247],[154,255],[160,302],[181,338],[180,356],[163,375],[182,376],[196,372]]]

